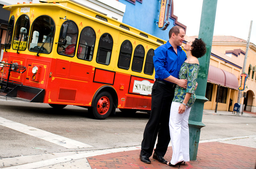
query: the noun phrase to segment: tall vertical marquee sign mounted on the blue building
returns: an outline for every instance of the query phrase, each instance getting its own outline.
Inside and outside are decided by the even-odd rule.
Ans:
[[[166,30],[167,26],[170,25],[171,4],[172,0],[161,0],[159,20],[157,22],[159,29]]]

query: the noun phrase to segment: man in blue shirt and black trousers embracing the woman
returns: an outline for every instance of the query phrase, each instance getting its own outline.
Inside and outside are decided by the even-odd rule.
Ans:
[[[153,57],[155,67],[155,83],[152,88],[151,112],[145,127],[141,143],[140,160],[151,163],[149,157],[153,153],[156,137],[158,140],[153,158],[160,163],[167,163],[164,155],[170,143],[169,117],[176,84],[187,88],[187,80],[178,79],[186,53],[181,49],[185,31],[180,26],[173,26],[169,31],[169,41],[159,46]]]

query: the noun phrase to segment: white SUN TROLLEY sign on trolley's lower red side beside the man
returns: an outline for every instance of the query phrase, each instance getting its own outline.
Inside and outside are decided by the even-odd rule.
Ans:
[[[150,83],[147,80],[134,80],[132,92],[139,93],[141,95],[151,95],[153,84],[154,83]]]

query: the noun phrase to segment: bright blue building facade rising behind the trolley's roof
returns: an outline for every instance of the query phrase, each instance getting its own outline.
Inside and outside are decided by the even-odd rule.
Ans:
[[[186,26],[177,21],[173,15],[172,0],[119,0],[126,5],[123,23],[131,25],[141,31],[147,32],[163,40],[169,40],[169,30],[174,25],[185,29]],[[167,27],[165,30],[158,28],[161,5],[165,3],[164,21]]]

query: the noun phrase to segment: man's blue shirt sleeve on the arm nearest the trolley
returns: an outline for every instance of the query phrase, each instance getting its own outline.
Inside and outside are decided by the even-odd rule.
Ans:
[[[155,56],[153,57],[154,61],[154,67],[155,67],[155,72],[156,72],[156,78],[159,79],[165,79],[169,77],[171,74],[166,70],[164,67],[164,64],[166,62],[166,49],[164,47],[158,47],[154,53]]]

